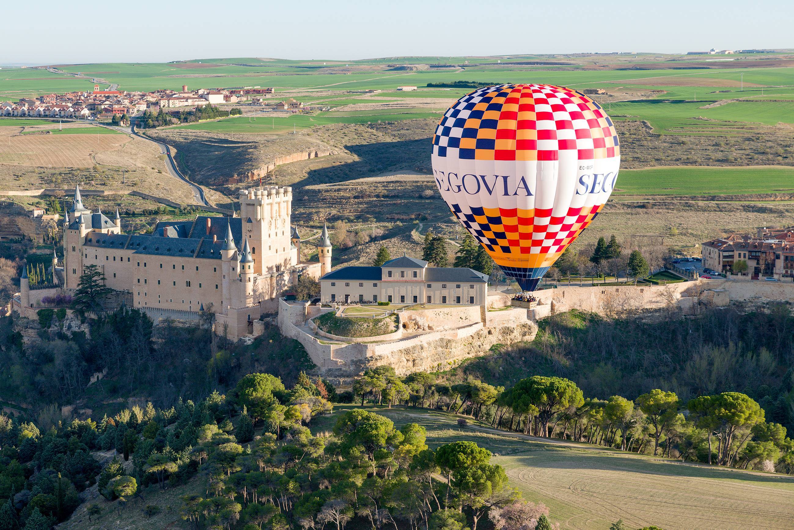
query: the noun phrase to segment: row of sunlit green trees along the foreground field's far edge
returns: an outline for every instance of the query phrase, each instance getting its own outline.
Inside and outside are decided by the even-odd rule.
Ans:
[[[600,400],[585,398],[565,377],[536,375],[505,388],[474,377],[445,381],[435,373],[396,377],[388,366],[368,369],[353,393],[362,405],[371,400],[440,409],[528,435],[688,462],[794,471],[794,441],[786,427],[767,422],[764,409],[744,393],[681,400],[674,392],[652,389],[634,400],[619,395]]]

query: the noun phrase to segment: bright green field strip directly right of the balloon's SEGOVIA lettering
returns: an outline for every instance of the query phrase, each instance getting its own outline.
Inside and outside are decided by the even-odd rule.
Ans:
[[[794,168],[748,166],[623,169],[615,195],[742,195],[794,192]]]

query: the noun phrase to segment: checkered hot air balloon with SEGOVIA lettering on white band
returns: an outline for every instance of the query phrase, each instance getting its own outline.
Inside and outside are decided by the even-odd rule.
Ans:
[[[450,211],[525,291],[534,291],[615,188],[618,136],[598,103],[545,84],[480,88],[433,137]]]

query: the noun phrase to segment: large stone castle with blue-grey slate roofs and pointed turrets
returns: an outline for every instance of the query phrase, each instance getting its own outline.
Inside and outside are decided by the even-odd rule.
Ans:
[[[239,218],[198,215],[159,222],[154,234],[124,234],[118,210],[112,219],[89,211],[75,188],[64,219],[65,289],[73,292],[85,267],[98,265],[106,286],[129,292],[134,308],[212,311],[218,334],[252,333],[253,321],[276,311],[291,284],[323,269],[300,261],[292,188],[244,189],[239,200]],[[322,255],[330,265],[330,248]]]

